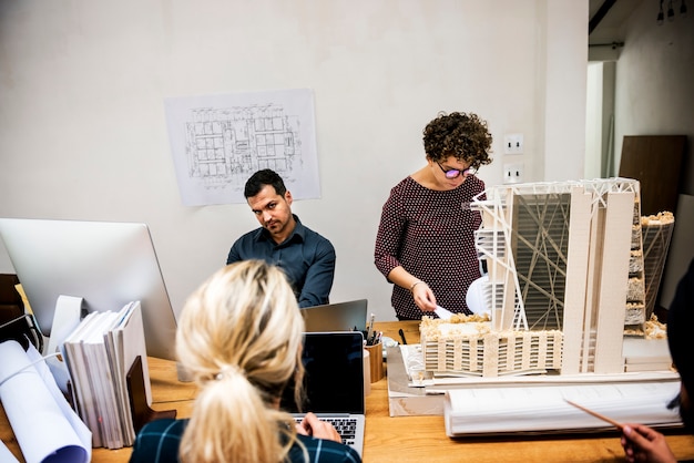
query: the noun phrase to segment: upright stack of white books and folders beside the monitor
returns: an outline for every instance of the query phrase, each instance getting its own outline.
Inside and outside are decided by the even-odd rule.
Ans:
[[[127,373],[142,361],[145,394],[152,403],[147,357],[139,301],[120,311],[91,312],[62,344],[73,402],[92,431],[94,447],[121,449],[135,440]]]

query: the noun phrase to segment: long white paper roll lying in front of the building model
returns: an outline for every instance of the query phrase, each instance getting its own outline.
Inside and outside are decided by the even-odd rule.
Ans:
[[[571,400],[622,423],[674,426],[680,415],[667,404],[678,391],[680,381],[451,389],[443,419],[451,438],[611,429]]]

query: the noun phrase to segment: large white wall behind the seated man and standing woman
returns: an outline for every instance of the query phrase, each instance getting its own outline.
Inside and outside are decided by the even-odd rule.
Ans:
[[[488,184],[519,132],[525,181],[580,178],[586,23],[574,0],[0,0],[0,216],[147,223],[178,311],[257,223],[182,206],[163,100],[310,88],[323,197],[295,213],[337,249],[331,300],[395,319],[374,238],[421,130],[476,112]]]

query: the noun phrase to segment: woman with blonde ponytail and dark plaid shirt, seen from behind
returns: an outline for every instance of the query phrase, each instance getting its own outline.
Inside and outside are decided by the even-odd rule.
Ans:
[[[176,352],[200,387],[190,420],[157,420],[139,433],[139,462],[359,462],[335,428],[279,410],[302,384],[304,320],[284,274],[261,260],[229,265],[188,298]],[[300,397],[300,390],[295,394]]]

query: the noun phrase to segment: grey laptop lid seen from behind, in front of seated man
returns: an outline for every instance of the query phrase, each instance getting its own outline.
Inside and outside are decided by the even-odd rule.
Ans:
[[[366,331],[367,299],[302,309],[306,332]]]

